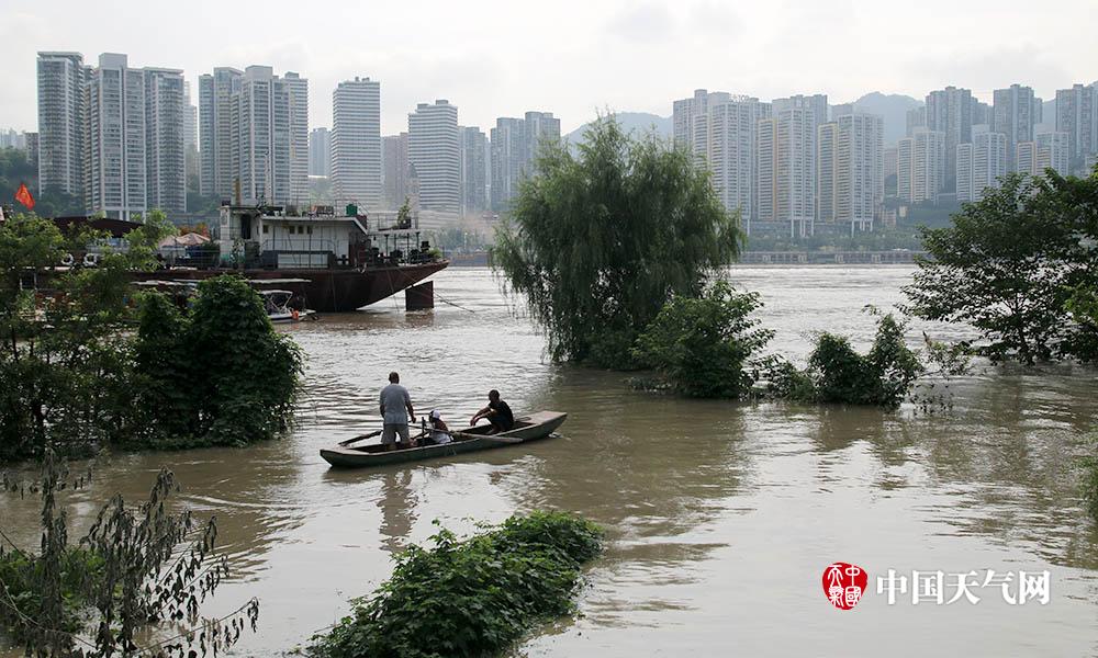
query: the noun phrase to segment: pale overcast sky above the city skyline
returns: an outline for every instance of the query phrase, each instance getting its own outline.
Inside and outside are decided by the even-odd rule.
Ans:
[[[1057,0],[0,0],[0,127],[35,129],[37,50],[184,70],[250,64],[309,78],[310,124],[330,126],[340,80],[381,81],[382,132],[449,99],[462,125],[596,109],[671,114],[692,90],[763,100],[870,91],[921,99],[945,84],[984,100],[1011,82],[1052,98],[1098,80],[1098,1]]]

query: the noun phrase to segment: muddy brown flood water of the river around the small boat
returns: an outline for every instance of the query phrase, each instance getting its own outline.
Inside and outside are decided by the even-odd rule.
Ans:
[[[772,348],[803,359],[813,331],[865,348],[866,304],[901,300],[910,268],[741,268],[759,291]],[[607,530],[587,570],[582,615],[541,628],[518,655],[1094,656],[1098,533],[1073,462],[1094,426],[1093,370],[982,367],[952,386],[954,407],[925,415],[775,402],[684,400],[631,390],[624,376],[557,366],[523,309],[488,270],[435,277],[434,311],[403,299],[288,331],[307,354],[292,435],[247,450],[119,455],[71,494],[86,525],[110,494],[137,500],[166,465],[180,500],[215,514],[234,577],[208,614],[256,595],[260,632],[238,655],[307,640],[391,571],[391,554],[432,521],[470,531],[536,508]],[[935,338],[957,329],[911,327]],[[329,470],[317,450],[379,427],[377,394],[400,371],[417,412],[461,424],[498,388],[516,413],[568,411],[561,436],[379,470]],[[37,506],[0,500],[2,526],[36,546]],[[74,534],[74,533],[70,533]],[[870,590],[832,608],[827,565],[858,564]],[[996,588],[950,605],[894,605],[874,591],[888,569],[1051,571],[1046,605]],[[946,598],[952,598],[952,590]]]

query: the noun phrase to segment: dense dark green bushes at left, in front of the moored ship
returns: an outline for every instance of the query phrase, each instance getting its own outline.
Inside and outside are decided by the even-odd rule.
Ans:
[[[203,282],[187,313],[134,293],[168,230],[154,212],[112,250],[33,215],[0,225],[0,461],[240,444],[289,418],[301,355],[247,284]],[[56,268],[91,243],[94,266]]]

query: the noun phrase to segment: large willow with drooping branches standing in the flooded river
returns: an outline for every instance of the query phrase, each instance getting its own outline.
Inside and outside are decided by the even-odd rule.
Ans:
[[[573,155],[544,143],[493,262],[523,295],[554,361],[631,363],[637,336],[674,295],[697,296],[739,254],[739,218],[692,156],[613,116]]]

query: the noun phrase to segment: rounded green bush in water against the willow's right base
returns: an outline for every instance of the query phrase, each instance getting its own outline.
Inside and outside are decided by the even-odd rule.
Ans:
[[[754,379],[744,367],[774,332],[750,315],[758,293],[737,293],[718,281],[701,298],[675,296],[637,339],[634,356],[688,397],[747,395]]]

